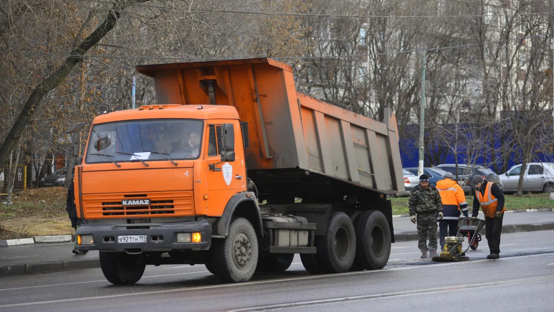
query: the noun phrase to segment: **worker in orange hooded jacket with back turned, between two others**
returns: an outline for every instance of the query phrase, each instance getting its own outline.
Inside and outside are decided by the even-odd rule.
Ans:
[[[458,233],[460,214],[468,217],[468,202],[465,200],[464,190],[454,181],[454,175],[450,172],[444,174],[443,180],[437,181],[437,190],[443,202],[444,217],[439,220],[439,241],[442,250],[447,234],[450,232],[449,236],[456,236]]]

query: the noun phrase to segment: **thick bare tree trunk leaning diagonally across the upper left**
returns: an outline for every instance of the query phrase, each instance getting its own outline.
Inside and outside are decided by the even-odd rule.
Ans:
[[[71,51],[71,56],[65,59],[64,64],[61,65],[52,75],[40,82],[37,87],[33,90],[27,102],[19,114],[19,117],[15,120],[12,125],[12,129],[9,131],[4,143],[0,147],[0,168],[4,167],[6,160],[8,158],[9,152],[14,148],[17,140],[25,128],[25,125],[29,124],[33,118],[33,114],[37,109],[40,101],[43,99],[44,95],[48,94],[51,90],[56,88],[58,84],[63,82],[63,80],[71,72],[71,69],[75,67],[77,63],[83,60],[84,54],[89,51],[100,39],[104,38],[107,33],[114,28],[117,20],[121,17],[121,12],[124,8],[129,6],[129,4],[136,4],[144,2],[145,0],[135,0],[132,2],[129,1],[118,1],[114,7],[107,14],[104,22],[100,24],[98,28],[95,29],[84,41],[82,41],[77,47]]]

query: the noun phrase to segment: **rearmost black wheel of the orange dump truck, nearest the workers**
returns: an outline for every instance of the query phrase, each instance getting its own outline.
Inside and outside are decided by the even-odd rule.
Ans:
[[[391,228],[382,212],[367,210],[356,222],[355,266],[378,270],[387,265],[391,255]]]

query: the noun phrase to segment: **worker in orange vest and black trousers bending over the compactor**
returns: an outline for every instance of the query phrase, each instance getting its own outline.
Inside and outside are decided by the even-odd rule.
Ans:
[[[477,190],[473,199],[473,214],[471,220],[477,220],[479,207],[485,214],[485,237],[489,243],[490,255],[487,259],[500,258],[500,232],[502,219],[504,218],[504,194],[498,185],[488,182],[481,175],[473,177],[473,183]]]

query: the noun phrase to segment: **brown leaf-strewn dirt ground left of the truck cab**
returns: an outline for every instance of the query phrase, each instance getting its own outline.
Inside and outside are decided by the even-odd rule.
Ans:
[[[65,211],[67,189],[29,189],[12,197],[12,205],[0,204],[0,239],[73,233]]]

